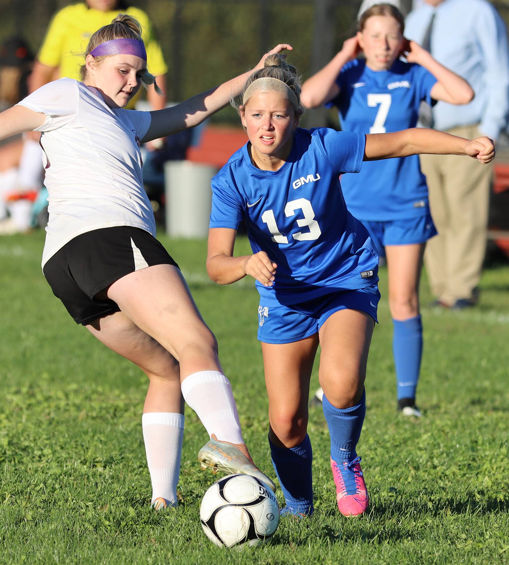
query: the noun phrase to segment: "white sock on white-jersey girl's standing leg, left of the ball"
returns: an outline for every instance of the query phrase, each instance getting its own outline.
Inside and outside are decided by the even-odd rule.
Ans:
[[[177,505],[184,415],[149,412],[142,416],[143,440],[152,481],[152,500],[163,497]]]

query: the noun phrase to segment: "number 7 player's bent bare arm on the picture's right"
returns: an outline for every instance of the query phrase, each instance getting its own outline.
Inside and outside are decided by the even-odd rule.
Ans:
[[[406,41],[403,51],[408,63],[419,64],[437,79],[430,91],[434,100],[450,104],[468,104],[472,100],[474,92],[468,82],[433,59],[431,54],[415,41]]]

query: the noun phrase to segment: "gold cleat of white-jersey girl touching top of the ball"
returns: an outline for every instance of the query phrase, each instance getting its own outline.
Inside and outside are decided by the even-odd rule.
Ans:
[[[273,492],[276,492],[276,485],[255,466],[244,444],[230,444],[228,441],[219,441],[212,434],[210,440],[199,450],[198,461],[202,469],[211,469],[214,475],[217,471],[223,471],[228,475],[236,475],[237,473],[251,475],[263,481]]]

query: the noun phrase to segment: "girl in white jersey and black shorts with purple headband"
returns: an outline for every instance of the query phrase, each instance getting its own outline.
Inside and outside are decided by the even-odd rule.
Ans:
[[[203,468],[275,488],[243,443],[215,337],[154,237],[141,174],[140,142],[201,123],[247,76],[172,108],[123,110],[154,77],[139,24],[119,15],[90,38],[82,82],[50,82],[0,114],[0,138],[42,132],[50,215],[42,267],[51,289],[76,323],[149,377],[142,424],[156,509],[176,505],[184,399],[211,437],[198,454]]]

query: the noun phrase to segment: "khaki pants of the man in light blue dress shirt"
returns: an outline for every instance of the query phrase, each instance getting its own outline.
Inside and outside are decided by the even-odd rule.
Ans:
[[[448,133],[481,135],[477,125]],[[424,255],[432,293],[447,305],[474,299],[486,250],[491,165],[462,155],[421,155],[421,168],[438,231]]]

